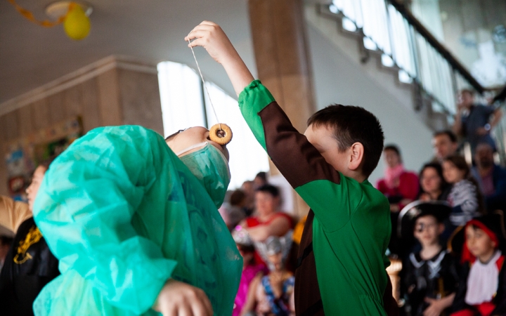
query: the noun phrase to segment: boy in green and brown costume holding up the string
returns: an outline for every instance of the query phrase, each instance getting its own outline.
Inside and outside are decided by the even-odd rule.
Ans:
[[[218,25],[202,22],[188,36],[223,65],[249,128],[311,207],[295,275],[297,315],[387,315],[389,203],[367,180],[382,154],[380,122],[361,107],[331,105],[302,135]]]

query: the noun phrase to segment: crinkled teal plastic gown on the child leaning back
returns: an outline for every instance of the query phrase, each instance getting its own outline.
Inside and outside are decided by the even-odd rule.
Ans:
[[[140,126],[75,141],[51,164],[34,205],[62,273],[35,314],[158,315],[151,307],[173,278],[204,290],[214,315],[231,315],[242,258],[216,209],[223,195],[209,197],[222,188],[205,185]]]

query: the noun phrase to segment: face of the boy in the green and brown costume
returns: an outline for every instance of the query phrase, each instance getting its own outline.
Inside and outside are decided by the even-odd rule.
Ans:
[[[339,151],[337,147],[337,140],[334,138],[334,133],[326,126],[314,127],[309,125],[304,136],[309,140],[318,152],[325,158],[325,161],[332,165],[334,169],[344,174],[344,176],[352,177],[348,168],[348,162],[351,155],[351,148]],[[352,177],[353,178],[353,177]]]

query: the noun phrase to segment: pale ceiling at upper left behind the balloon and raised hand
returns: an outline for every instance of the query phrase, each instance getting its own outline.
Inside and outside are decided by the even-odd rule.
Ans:
[[[39,20],[51,0],[17,0]],[[247,0],[89,0],[91,32],[82,41],[66,37],[62,26],[44,28],[22,18],[0,0],[0,105],[108,55],[143,60],[171,60],[194,67],[183,38],[202,20],[219,23],[251,69],[254,55]],[[205,79],[229,93],[231,84],[220,65],[195,51]]]

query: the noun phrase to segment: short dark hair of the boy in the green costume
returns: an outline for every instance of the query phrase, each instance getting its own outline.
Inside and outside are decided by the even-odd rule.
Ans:
[[[380,161],[384,142],[382,126],[374,114],[363,107],[329,105],[313,114],[307,124],[332,129],[340,152],[353,143],[361,143],[364,147],[362,173],[368,177],[374,171]]]

